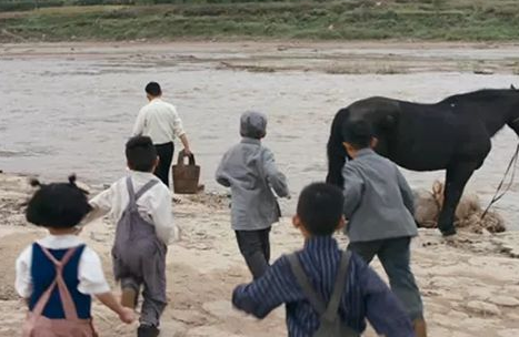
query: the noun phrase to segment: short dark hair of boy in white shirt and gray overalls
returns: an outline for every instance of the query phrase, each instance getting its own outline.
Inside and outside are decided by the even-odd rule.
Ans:
[[[126,156],[131,170],[151,172],[157,161],[157,149],[149,136],[138,135],[127,142]]]

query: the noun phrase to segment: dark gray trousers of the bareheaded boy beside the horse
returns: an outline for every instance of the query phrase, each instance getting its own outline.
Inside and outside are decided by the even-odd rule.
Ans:
[[[411,272],[410,237],[350,243],[348,249],[370,263],[377,255],[389,278],[391,290],[409,313],[411,320],[423,318],[423,304]]]

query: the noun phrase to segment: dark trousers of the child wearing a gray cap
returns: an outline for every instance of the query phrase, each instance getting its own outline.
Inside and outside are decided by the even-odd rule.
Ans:
[[[241,255],[253,278],[261,277],[269,268],[270,227],[259,231],[236,231],[236,239]]]

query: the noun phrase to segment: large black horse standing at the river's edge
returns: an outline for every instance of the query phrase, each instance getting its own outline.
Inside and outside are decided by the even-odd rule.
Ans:
[[[519,135],[519,90],[480,90],[435,104],[376,96],[339,110],[328,141],[327,182],[341,188],[348,188],[341,175],[347,157],[342,125],[356,120],[372,124],[379,140],[375,150],[398,165],[447,170],[438,227],[443,235],[452,235],[456,207],[468,180],[490,152],[490,139],[505,125]]]

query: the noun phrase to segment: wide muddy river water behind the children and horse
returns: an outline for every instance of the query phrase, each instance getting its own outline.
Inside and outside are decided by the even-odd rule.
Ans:
[[[288,175],[293,196],[305,184],[325,178],[326,142],[339,108],[370,95],[435,102],[455,93],[519,83],[517,75],[507,73],[327,74],[312,69],[262,73],[218,67],[214,59],[247,60],[254,54],[232,47],[214,52],[203,50],[206,61],[193,61],[199,57],[194,52],[176,54],[170,50],[164,57],[153,50],[132,53],[131,48],[124,53],[91,52],[82,57],[53,54],[47,49],[44,54],[31,54],[38,48],[27,49],[27,54],[23,51],[10,54],[4,49],[0,57],[0,170],[38,174],[48,180],[63,180],[74,172],[92,184],[110,183],[124,174],[123,144],[139,109],[146,104],[142,88],[151,80],[162,84],[164,98],[183,119],[208,190],[221,191],[213,181],[218,161],[239,141],[240,113],[257,109],[269,115],[265,143]],[[447,54],[448,50],[438,52]],[[402,58],[420,55],[419,50],[412,49],[377,50],[375,54],[379,59],[382,55],[379,61],[383,62],[385,54],[395,58],[399,53]],[[305,51],[300,54],[306,55]],[[358,59],[359,51],[352,54]],[[475,54],[499,60],[509,58],[511,52],[450,50],[450,55],[457,59]],[[181,58],[174,59],[176,55]],[[315,50],[306,55],[310,63],[312,55]],[[254,59],[254,64],[260,61]],[[288,64],[292,60],[276,62]],[[493,139],[485,166],[469,184],[469,191],[477,192],[483,203],[492,196],[517,143],[517,136],[508,129]],[[430,188],[432,181],[442,175],[442,172],[406,171],[413,187]],[[507,225],[516,229],[518,201],[516,182],[497,206]],[[283,203],[286,214],[293,212],[296,197]]]

